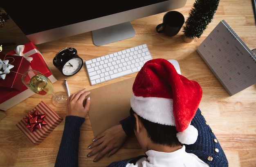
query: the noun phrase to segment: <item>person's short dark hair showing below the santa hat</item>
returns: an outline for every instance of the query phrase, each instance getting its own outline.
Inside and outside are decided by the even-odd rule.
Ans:
[[[132,108],[130,108],[130,115],[132,116],[132,125],[136,127],[135,116],[133,115],[134,113],[136,114],[136,112],[134,112]],[[161,125],[159,123],[150,122],[139,115],[138,117],[139,119],[141,119],[141,122],[143,123],[144,127],[147,130],[148,137],[151,139],[153,143],[167,146],[182,145],[176,137],[177,130],[175,126]]]

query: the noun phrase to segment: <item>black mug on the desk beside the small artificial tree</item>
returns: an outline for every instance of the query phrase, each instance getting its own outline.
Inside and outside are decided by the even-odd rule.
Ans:
[[[184,21],[184,16],[180,12],[168,11],[164,14],[163,23],[157,25],[156,31],[172,37],[180,31]]]

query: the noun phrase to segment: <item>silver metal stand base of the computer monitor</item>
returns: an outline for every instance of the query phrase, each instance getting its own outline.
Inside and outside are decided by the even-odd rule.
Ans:
[[[110,44],[135,36],[135,30],[130,22],[109,26],[92,31],[93,43],[96,46]]]

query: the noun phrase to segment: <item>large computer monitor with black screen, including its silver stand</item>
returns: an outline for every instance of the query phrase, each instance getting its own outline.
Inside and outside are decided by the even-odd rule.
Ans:
[[[1,2],[2,8],[34,44],[92,31],[93,42],[97,46],[133,37],[132,20],[178,9],[185,4],[186,0]]]

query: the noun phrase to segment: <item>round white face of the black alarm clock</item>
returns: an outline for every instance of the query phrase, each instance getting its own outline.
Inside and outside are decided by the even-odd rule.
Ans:
[[[74,75],[82,68],[82,66],[83,60],[75,57],[64,64],[62,68],[62,73],[63,75]]]

